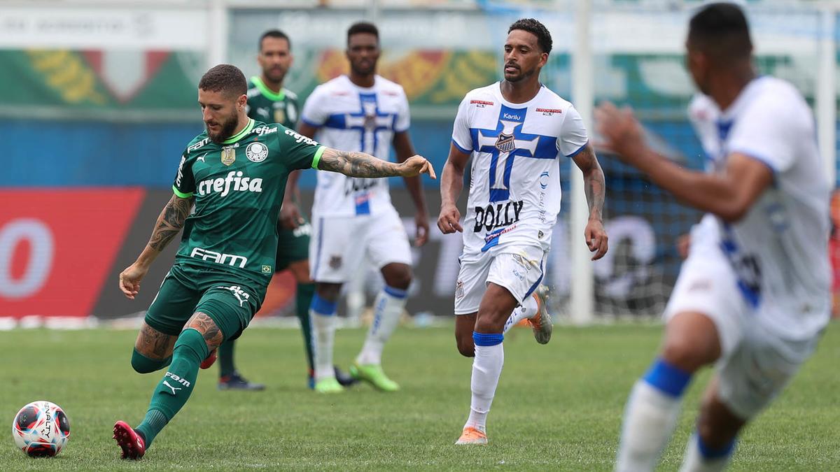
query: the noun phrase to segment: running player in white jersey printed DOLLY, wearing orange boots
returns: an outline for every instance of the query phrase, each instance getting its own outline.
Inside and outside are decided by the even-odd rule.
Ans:
[[[596,251],[592,259],[606,254],[604,174],[580,114],[539,81],[550,51],[551,34],[543,24],[533,18],[512,24],[505,43],[505,79],[467,93],[455,117],[441,177],[438,228],[464,233],[455,338],[461,354],[475,356],[470,417],[456,444],[487,443],[486,417],[501,375],[507,328],[528,319],[539,343],[551,337],[540,282],[560,211],[562,159],[574,160],[584,175],[590,204],[585,239]],[[470,156],[470,197],[462,226],[456,202]]]

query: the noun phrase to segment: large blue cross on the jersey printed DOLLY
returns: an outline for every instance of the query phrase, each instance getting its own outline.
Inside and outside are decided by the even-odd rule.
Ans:
[[[501,105],[496,129],[470,128],[473,150],[491,155],[490,201],[504,202],[511,197],[511,170],[517,157],[557,158],[557,137],[522,133],[528,108]]]

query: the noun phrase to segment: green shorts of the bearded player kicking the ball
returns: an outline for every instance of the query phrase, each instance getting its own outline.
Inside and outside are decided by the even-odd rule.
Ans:
[[[145,321],[160,333],[177,336],[193,313],[206,313],[225,339],[239,338],[260,309],[265,287],[239,275],[173,265],[160,284]]]

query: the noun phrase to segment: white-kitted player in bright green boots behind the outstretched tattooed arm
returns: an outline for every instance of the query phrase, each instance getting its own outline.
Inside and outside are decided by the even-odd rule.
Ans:
[[[389,160],[391,145],[400,162],[414,155],[408,136],[408,100],[402,87],[376,74],[379,32],[374,24],[353,24],[347,32],[350,73],[315,88],[307,98],[298,130],[326,145]],[[428,239],[428,212],[420,179],[405,179],[417,212],[417,246]],[[339,291],[365,260],[385,279],[374,303],[374,321],[350,374],[381,391],[399,385],[381,367],[381,354],[406,305],[412,254],[402,220],[391,204],[388,182],[318,176],[312,206],[309,249],[316,295],[310,310],[315,338],[315,390],[344,389],[333,372],[335,311]]]

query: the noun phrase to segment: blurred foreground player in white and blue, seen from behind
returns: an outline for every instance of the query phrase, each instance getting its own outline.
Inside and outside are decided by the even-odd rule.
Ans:
[[[722,470],[755,417],[816,348],[831,309],[829,191],[814,119],[790,83],[757,76],[747,19],[712,3],[690,20],[687,64],[702,95],[690,117],[707,172],[643,143],[629,110],[596,111],[606,145],[706,212],[668,306],[659,358],[627,400],[617,470],[653,470],[685,387],[716,364],[681,470]]]

